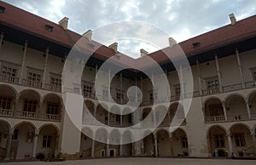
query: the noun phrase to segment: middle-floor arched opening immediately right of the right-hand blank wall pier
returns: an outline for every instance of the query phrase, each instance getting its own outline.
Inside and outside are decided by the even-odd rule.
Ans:
[[[218,98],[207,100],[204,108],[206,122],[219,122],[225,120],[222,102]]]

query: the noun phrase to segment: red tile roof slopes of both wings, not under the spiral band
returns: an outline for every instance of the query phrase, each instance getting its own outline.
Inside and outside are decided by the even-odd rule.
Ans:
[[[67,48],[72,48],[73,43],[76,43],[79,41],[79,38],[82,37],[74,31],[64,30],[62,26],[55,24],[54,22],[45,20],[38,15],[28,13],[25,10],[18,9],[8,3],[0,2],[0,5],[6,8],[4,13],[0,16],[1,24],[5,26],[15,27],[20,31],[25,31],[34,36],[42,37]],[[53,26],[53,31],[47,31],[45,25]],[[68,36],[70,36],[70,38]],[[188,55],[207,51],[211,48],[218,48],[219,46],[251,37],[256,37],[256,15],[237,21],[235,26],[227,25],[220,27],[216,30],[183,41],[182,43],[179,43],[179,45],[183,48],[184,53]],[[92,43],[96,42],[93,41]],[[200,45],[198,48],[193,48],[193,43],[200,43]],[[113,49],[102,45],[101,48],[96,50],[96,54],[98,58],[106,60],[113,56],[115,52]],[[124,54],[120,55],[125,56]],[[166,55],[164,55],[161,50],[148,54],[148,56],[159,63],[167,60]],[[124,58],[125,60],[132,60],[131,57],[128,56],[125,56]],[[138,59],[137,62],[142,60],[143,58]]]

